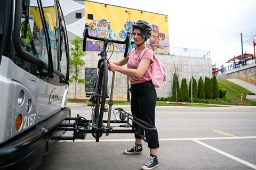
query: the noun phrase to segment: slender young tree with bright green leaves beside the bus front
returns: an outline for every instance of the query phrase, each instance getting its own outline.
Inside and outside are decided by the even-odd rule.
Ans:
[[[85,52],[83,52],[81,46],[82,46],[82,39],[80,39],[79,36],[76,36],[75,39],[71,41],[70,46],[70,58],[69,58],[69,64],[70,64],[70,82],[75,81],[75,98],[76,98],[76,84],[77,83],[88,83],[85,81],[85,79],[81,79],[81,67],[85,65],[85,61],[81,58],[82,56],[85,56]]]

